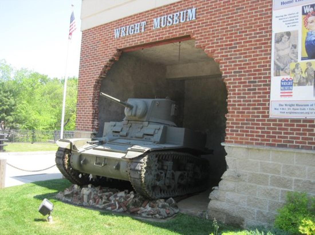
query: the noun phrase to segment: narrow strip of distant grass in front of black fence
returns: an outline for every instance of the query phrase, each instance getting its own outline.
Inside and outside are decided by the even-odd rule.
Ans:
[[[4,146],[5,152],[34,152],[34,151],[57,151],[58,146],[56,144],[20,144],[20,143],[8,143],[8,146]]]

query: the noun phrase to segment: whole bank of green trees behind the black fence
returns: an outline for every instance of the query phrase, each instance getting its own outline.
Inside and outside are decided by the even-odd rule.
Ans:
[[[1,128],[60,130],[64,80],[0,61]],[[65,130],[74,130],[77,78],[68,79]]]

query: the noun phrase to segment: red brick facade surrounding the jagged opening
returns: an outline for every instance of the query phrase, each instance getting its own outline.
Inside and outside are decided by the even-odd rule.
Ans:
[[[152,29],[154,18],[192,7],[196,20]],[[115,28],[144,20],[145,32],[114,39]],[[269,118],[272,0],[184,0],[83,31],[77,130],[98,129],[100,79],[119,49],[187,35],[220,65],[228,91],[226,143],[315,150],[314,120]]]

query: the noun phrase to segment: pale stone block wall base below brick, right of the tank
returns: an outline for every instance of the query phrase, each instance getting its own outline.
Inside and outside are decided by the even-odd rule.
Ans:
[[[228,169],[209,195],[209,218],[265,226],[274,222],[288,191],[315,195],[314,151],[222,145]]]

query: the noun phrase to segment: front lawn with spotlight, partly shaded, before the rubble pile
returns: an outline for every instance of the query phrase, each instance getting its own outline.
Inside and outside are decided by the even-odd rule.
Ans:
[[[39,181],[0,189],[1,234],[209,234],[211,220],[179,214],[166,222],[136,219],[111,211],[97,211],[73,206],[54,199],[71,184],[66,179]],[[38,212],[44,198],[54,204],[54,222]],[[219,224],[220,234],[248,233]],[[266,233],[264,233],[266,234]]]

